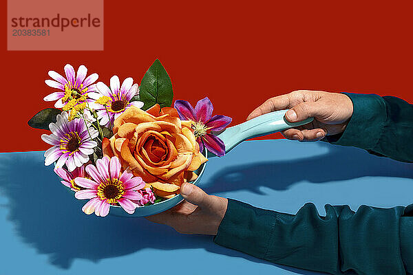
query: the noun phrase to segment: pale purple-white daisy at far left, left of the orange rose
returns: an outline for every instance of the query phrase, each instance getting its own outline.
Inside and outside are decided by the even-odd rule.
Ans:
[[[57,115],[56,120],[56,123],[49,124],[52,134],[41,135],[44,142],[53,145],[45,151],[45,166],[57,161],[56,167],[66,164],[67,169],[72,172],[76,167],[81,167],[89,161],[93,148],[98,146],[92,139],[99,133],[96,129],[86,126],[81,118],[69,122],[65,111]],[[87,123],[90,126],[89,122]]]

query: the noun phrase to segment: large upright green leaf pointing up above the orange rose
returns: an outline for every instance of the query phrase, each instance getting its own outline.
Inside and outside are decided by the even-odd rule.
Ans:
[[[160,104],[160,107],[171,107],[173,98],[171,78],[159,59],[153,62],[143,76],[139,96],[140,101],[145,103],[142,107],[144,110],[156,103]]]

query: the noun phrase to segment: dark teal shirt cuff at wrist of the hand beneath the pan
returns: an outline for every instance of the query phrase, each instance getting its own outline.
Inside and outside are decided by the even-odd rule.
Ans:
[[[274,211],[228,199],[224,219],[213,241],[226,248],[265,259],[274,226]]]

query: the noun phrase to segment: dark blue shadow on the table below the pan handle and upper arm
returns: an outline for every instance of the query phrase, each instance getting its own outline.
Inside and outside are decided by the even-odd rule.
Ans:
[[[323,142],[317,145],[326,147],[328,153],[285,162],[227,166],[214,173],[212,179],[203,185],[204,190],[209,193],[250,190],[262,194],[259,190],[262,186],[286,190],[291,184],[304,180],[323,184],[366,176],[413,179],[411,164],[370,155],[360,148],[332,146]]]

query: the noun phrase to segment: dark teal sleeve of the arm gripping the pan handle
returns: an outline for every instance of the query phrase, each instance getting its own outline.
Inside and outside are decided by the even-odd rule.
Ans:
[[[413,104],[394,96],[343,94],[352,100],[353,114],[346,130],[326,137],[328,142],[413,162]]]

